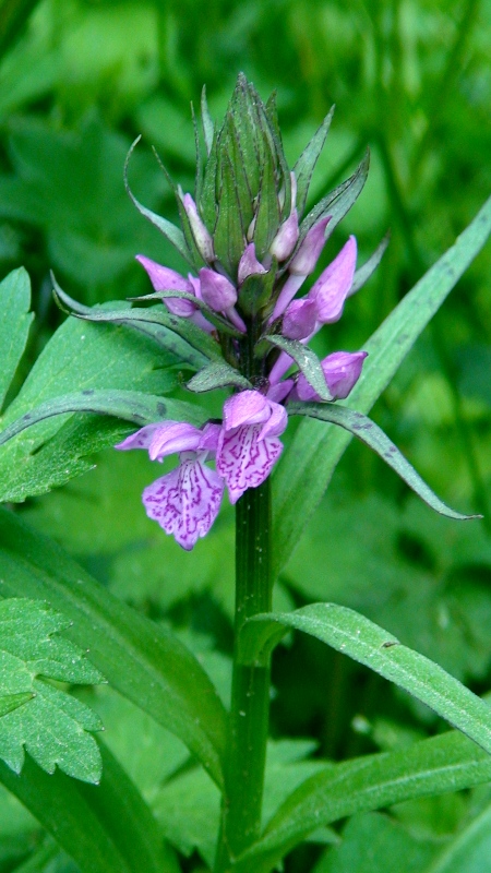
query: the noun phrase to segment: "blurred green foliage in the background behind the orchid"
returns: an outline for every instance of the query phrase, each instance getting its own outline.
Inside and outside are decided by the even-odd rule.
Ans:
[[[324,260],[350,232],[360,262],[387,228],[392,241],[378,274],[349,301],[343,320],[323,332],[324,354],[362,348],[490,189],[489,0],[43,0],[31,3],[31,14],[25,4],[15,31],[8,29],[9,5],[0,5],[0,271],[3,276],[22,263],[33,279],[37,319],[24,375],[62,319],[51,299],[50,268],[73,297],[93,304],[147,290],[133,261],[139,252],[182,267],[129,202],[122,165],[142,133],[131,183],[146,205],[173,217],[149,146],[192,190],[189,105],[199,105],[203,83],[216,118],[239,70],[263,97],[277,88],[291,164],[337,105],[312,201],[355,168],[367,144],[371,148],[369,181]],[[488,248],[374,410],[447,503],[484,519],[459,526],[433,517],[382,462],[351,445],[277,591],[286,608],[313,599],[351,606],[478,692],[489,689],[491,668],[490,262]],[[226,696],[231,512],[184,554],[144,516],[141,490],[155,478],[149,462],[111,451],[94,462],[83,478],[16,511],[113,593],[178,629]],[[274,680],[272,731],[284,740],[272,766],[291,762],[297,778],[315,768],[316,755],[392,749],[440,729],[428,710],[314,641],[288,641],[277,653]],[[199,868],[209,858],[207,811],[215,802],[206,777],[192,769],[178,741],[115,695],[98,694],[92,703],[164,833],[178,832],[187,869]],[[309,754],[313,758],[303,761]],[[376,863],[378,871],[390,871],[397,852],[408,871],[426,870],[488,802],[480,789],[467,798],[404,804],[390,818],[360,816],[339,828],[343,842],[321,835],[321,842],[294,853],[289,869],[369,873]],[[179,821],[169,812],[176,805]],[[188,808],[192,825],[180,833]],[[33,849],[46,854],[33,869],[73,869],[7,794],[0,815],[0,871],[16,869]],[[360,849],[368,834],[376,835],[373,858]],[[483,839],[484,846],[491,839],[489,826]],[[336,846],[324,850],[322,840]],[[462,864],[452,870],[470,870]]]

